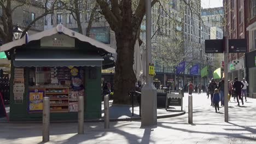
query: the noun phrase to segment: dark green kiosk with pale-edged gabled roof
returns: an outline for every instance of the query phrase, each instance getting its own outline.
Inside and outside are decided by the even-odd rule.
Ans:
[[[77,119],[78,97],[85,118],[101,117],[101,69],[112,47],[58,25],[0,47],[11,60],[10,121],[42,119],[43,97],[50,119]]]

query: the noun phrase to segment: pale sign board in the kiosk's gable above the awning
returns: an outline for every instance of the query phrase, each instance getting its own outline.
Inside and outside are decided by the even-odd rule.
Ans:
[[[54,34],[40,40],[41,47],[74,47],[75,39],[65,34]]]

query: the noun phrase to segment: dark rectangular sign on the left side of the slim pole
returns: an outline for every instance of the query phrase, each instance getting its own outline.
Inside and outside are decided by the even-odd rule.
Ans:
[[[223,53],[223,39],[208,39],[205,40],[205,53]]]

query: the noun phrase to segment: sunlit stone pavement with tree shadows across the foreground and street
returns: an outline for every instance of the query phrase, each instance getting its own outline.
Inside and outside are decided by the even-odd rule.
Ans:
[[[231,100],[232,101],[232,100]],[[85,134],[77,134],[77,123],[52,123],[47,143],[256,143],[256,99],[238,107],[229,103],[229,123],[224,107],[216,113],[206,94],[193,96],[193,123],[188,114],[158,119],[158,124],[141,128],[140,121],[85,123]],[[188,111],[188,94],[184,110]],[[42,143],[42,124],[0,123],[1,143]]]

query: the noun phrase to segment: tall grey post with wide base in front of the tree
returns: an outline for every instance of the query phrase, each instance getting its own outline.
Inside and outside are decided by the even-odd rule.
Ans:
[[[146,85],[141,95],[141,126],[157,124],[156,88],[153,85],[153,76],[149,75],[149,64],[152,63],[151,49],[151,0],[146,1]]]

